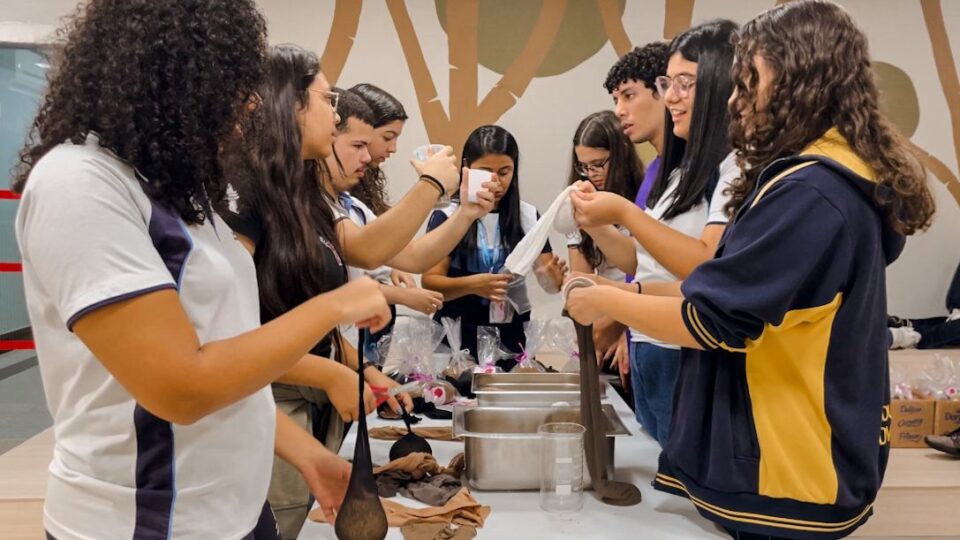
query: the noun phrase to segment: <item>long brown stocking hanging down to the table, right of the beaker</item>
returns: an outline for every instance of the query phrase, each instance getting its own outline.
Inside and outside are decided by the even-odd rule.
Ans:
[[[597,373],[593,326],[583,326],[576,321],[574,325],[580,348],[580,420],[587,429],[583,434],[583,446],[593,492],[601,501],[613,506],[640,504],[642,496],[637,486],[606,477],[607,419],[600,405],[600,375]]]

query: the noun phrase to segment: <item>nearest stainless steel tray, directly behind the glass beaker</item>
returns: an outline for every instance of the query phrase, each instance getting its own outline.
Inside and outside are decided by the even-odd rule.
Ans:
[[[614,438],[629,436],[611,405],[603,405],[607,426],[607,476],[613,477]],[[540,437],[549,422],[580,422],[579,407],[457,407],[454,435],[464,437],[467,484],[478,490],[540,489]],[[590,474],[584,466],[584,486]]]

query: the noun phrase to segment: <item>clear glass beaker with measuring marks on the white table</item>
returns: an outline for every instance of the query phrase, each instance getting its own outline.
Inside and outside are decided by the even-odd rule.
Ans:
[[[573,422],[543,424],[540,435],[540,508],[552,513],[583,508],[583,435]]]

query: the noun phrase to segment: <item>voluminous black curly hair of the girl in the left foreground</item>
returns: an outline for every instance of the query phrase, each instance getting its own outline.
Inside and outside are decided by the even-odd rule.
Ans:
[[[225,194],[221,143],[263,78],[266,24],[253,1],[91,0],[59,37],[13,189],[53,147],[96,133],[151,198],[203,222]]]

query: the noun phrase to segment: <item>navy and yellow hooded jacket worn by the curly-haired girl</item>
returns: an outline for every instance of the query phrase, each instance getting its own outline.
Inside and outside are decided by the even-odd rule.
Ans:
[[[904,239],[835,129],[778,160],[683,283],[683,351],[658,489],[725,527],[840,538],[889,450],[885,268]]]

